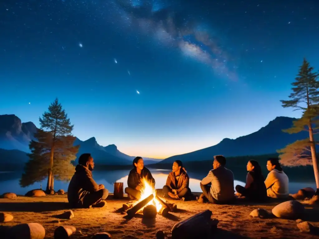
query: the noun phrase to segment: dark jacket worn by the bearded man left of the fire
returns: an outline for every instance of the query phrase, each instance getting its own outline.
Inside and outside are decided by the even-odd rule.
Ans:
[[[68,201],[73,206],[83,205],[83,198],[90,192],[99,191],[99,185],[92,178],[92,171],[78,164],[68,187]]]

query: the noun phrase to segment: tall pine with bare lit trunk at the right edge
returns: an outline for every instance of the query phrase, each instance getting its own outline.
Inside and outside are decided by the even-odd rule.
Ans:
[[[281,100],[282,106],[293,107],[294,110],[301,110],[302,117],[293,122],[293,127],[284,132],[289,134],[299,133],[301,131],[308,131],[309,138],[296,141],[293,144],[287,145],[286,148],[279,150],[284,153],[280,156],[285,164],[288,163],[288,157],[293,156],[295,159],[288,164],[290,165],[305,165],[309,164],[309,156],[307,150],[310,148],[311,161],[314,167],[315,181],[317,191],[319,190],[319,171],[318,162],[316,158],[315,139],[314,134],[318,133],[318,105],[319,105],[319,74],[314,73],[314,68],[309,65],[309,62],[304,59],[300,66],[299,73],[292,83],[292,93],[289,95],[291,100]],[[286,160],[285,160],[286,159]]]

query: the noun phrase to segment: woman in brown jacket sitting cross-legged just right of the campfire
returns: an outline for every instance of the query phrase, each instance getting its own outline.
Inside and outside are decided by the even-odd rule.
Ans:
[[[163,194],[171,199],[185,199],[191,195],[189,176],[183,168],[182,161],[176,160],[173,163],[172,172],[167,176],[166,185],[163,187]]]

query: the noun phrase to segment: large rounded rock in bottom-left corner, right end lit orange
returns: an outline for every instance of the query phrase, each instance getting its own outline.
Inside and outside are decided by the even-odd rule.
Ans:
[[[18,224],[11,228],[10,235],[12,239],[43,239],[45,237],[45,229],[39,223]]]

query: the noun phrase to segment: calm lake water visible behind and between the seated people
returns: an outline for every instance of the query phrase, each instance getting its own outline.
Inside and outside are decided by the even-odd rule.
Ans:
[[[170,170],[156,170],[150,169],[152,172],[153,177],[156,181],[156,188],[162,188],[163,185],[166,183],[167,175]],[[93,171],[93,178],[98,184],[105,185],[110,192],[113,192],[113,183],[114,182],[123,182],[124,187],[127,187],[127,178],[130,170],[112,170],[112,171]],[[29,190],[40,188],[40,184],[42,184],[42,188],[46,188],[46,180],[42,181],[41,183],[35,183],[34,185],[30,185],[25,188],[21,188],[19,186],[19,179],[21,177],[22,172],[0,172],[0,195],[4,192],[14,192],[16,194],[23,195]],[[201,172],[201,173],[191,173],[188,171],[190,180],[189,180],[189,187],[192,192],[200,192],[200,180],[207,175],[208,171]],[[243,181],[235,180],[235,185],[245,185]],[[54,189],[63,189],[65,192],[68,189],[68,182],[61,182],[55,181]],[[290,182],[289,191],[290,193],[295,193],[301,188],[305,187],[315,187],[315,180],[310,182]]]

